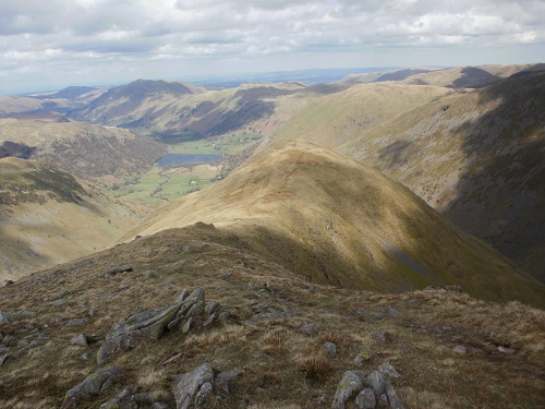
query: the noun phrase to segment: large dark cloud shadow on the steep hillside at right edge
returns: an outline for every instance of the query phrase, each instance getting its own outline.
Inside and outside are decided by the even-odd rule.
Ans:
[[[543,281],[545,254],[545,74],[480,91],[479,104],[501,103],[464,123],[467,165],[443,214]]]

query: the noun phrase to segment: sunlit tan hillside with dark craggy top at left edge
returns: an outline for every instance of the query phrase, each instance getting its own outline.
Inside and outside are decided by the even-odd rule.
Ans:
[[[0,281],[112,245],[138,218],[52,165],[0,159]]]

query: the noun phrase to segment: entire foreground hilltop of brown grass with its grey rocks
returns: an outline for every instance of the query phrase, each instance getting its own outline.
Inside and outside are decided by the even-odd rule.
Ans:
[[[460,290],[318,286],[164,231],[0,289],[0,407],[542,407],[543,311]]]

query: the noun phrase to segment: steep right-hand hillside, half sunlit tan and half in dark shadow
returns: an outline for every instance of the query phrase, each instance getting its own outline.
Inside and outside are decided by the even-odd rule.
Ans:
[[[446,97],[341,153],[409,187],[544,279],[545,74]]]

